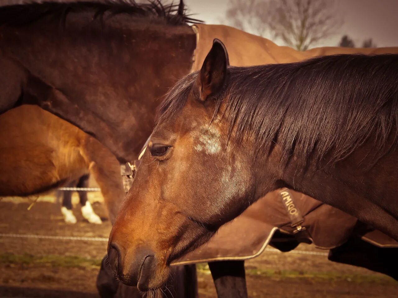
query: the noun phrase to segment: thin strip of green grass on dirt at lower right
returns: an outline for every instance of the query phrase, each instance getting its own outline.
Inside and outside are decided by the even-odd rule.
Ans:
[[[211,274],[207,263],[196,264],[196,268],[199,273],[206,275]],[[272,270],[272,269],[259,269],[259,268],[246,268],[246,275],[251,276],[262,276],[273,279],[289,279],[289,278],[307,278],[314,280],[324,281],[349,281],[354,283],[394,283],[396,281],[386,275],[374,275],[374,274],[341,274],[339,272],[331,271],[290,271],[290,270]]]

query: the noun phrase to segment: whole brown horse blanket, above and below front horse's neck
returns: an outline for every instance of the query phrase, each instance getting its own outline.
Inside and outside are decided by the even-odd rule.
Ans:
[[[250,66],[297,62],[320,55],[332,54],[385,54],[398,53],[398,48],[313,48],[299,52],[287,46],[278,46],[268,39],[252,35],[224,25],[193,25],[197,36],[192,71],[199,70],[211,48],[213,39],[220,39],[228,50],[230,64]],[[258,256],[268,244],[272,244],[277,230],[297,238],[300,242],[313,243],[331,249],[357,236],[378,247],[398,247],[390,237],[369,227],[362,227],[358,220],[334,207],[325,205],[306,195],[289,190],[292,203],[302,217],[305,228],[294,233],[294,218],[289,216],[281,190],[269,193],[250,206],[231,223],[225,224],[207,244],[182,257],[174,264],[187,264],[215,260],[249,259]],[[293,207],[291,207],[293,208]]]

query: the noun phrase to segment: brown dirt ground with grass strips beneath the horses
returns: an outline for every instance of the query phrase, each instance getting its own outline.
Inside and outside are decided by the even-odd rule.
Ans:
[[[90,200],[96,200],[95,194],[91,194]],[[21,199],[0,201],[0,298],[99,297],[95,280],[106,252],[105,240],[20,235],[107,238],[111,226],[102,204],[93,203],[104,220],[101,225],[84,221],[78,207],[74,209],[78,223],[67,225],[59,204],[39,201],[27,211],[29,205]],[[332,263],[325,253],[300,245],[289,253],[266,250],[258,258],[246,261],[249,297],[398,297],[398,283],[393,279],[367,269]],[[207,265],[199,264],[197,269],[199,296],[216,297]]]

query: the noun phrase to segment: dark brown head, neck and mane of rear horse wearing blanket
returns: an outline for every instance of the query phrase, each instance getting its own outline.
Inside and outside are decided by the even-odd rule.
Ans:
[[[2,7],[0,112],[37,104],[133,161],[162,96],[191,69],[189,20],[157,2]]]

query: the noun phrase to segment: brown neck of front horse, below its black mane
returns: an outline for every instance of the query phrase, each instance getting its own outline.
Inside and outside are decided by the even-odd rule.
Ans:
[[[256,199],[288,187],[345,211],[398,240],[398,230],[394,228],[398,186],[391,183],[397,175],[394,164],[398,162],[398,151],[392,150],[369,169],[371,161],[364,156],[371,148],[373,145],[368,142],[332,166],[309,160],[305,169],[295,155],[281,163],[282,154],[277,148],[256,164]]]

